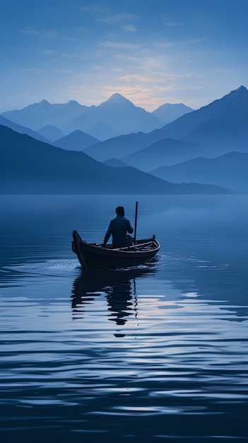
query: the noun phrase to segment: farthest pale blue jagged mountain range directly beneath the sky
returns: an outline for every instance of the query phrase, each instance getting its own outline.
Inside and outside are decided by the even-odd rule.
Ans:
[[[148,113],[121,94],[115,93],[98,106],[80,105],[75,100],[65,104],[51,104],[42,100],[22,110],[7,111],[2,116],[18,125],[29,127],[54,142],[55,128],[62,132],[57,139],[80,130],[104,140],[131,132],[150,132],[190,111],[191,108],[179,103],[165,104],[153,113]]]

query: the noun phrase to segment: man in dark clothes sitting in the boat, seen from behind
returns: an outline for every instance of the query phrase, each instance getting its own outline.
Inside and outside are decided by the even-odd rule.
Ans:
[[[129,220],[124,217],[124,207],[118,206],[117,209],[115,209],[115,212],[117,213],[117,217],[111,220],[110,226],[108,227],[105,234],[102,246],[106,247],[106,243],[111,234],[114,248],[124,248],[125,246],[131,246],[131,236],[127,235],[126,233],[129,232],[129,234],[132,234],[132,232],[134,232],[134,229],[131,227]]]

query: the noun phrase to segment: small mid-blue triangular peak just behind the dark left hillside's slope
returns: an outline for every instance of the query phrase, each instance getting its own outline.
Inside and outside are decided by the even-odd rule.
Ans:
[[[91,137],[89,134],[85,134],[82,131],[74,131],[71,134],[62,137],[53,143],[53,146],[58,148],[68,149],[69,151],[82,151],[92,144],[98,143],[99,140],[95,137]]]

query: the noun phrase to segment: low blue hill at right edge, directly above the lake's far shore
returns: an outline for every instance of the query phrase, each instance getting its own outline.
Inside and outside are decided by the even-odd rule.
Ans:
[[[230,152],[215,159],[198,157],[150,171],[172,183],[211,183],[234,192],[248,192],[248,153]]]

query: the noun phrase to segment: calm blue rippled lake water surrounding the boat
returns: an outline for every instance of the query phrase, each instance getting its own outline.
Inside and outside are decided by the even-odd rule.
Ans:
[[[83,271],[124,205],[160,253]],[[247,442],[248,196],[0,196],[1,443]]]

